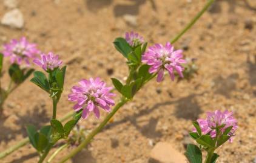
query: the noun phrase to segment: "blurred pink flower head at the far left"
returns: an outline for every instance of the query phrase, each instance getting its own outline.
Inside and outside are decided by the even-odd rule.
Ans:
[[[11,63],[21,65],[24,61],[27,66],[30,66],[30,59],[35,58],[40,51],[35,43],[29,43],[25,37],[21,37],[20,40],[12,39],[10,43],[5,44],[2,53],[5,57],[10,57]]]

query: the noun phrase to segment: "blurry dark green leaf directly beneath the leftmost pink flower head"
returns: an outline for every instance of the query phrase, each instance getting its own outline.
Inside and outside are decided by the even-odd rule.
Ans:
[[[10,78],[12,78],[13,82],[15,82],[15,83],[22,82],[23,72],[19,68],[19,65],[17,65],[16,63],[13,63],[10,66],[9,75],[10,75]]]

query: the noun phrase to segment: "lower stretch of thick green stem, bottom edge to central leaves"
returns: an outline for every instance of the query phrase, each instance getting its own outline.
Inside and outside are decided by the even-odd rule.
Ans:
[[[84,149],[84,147],[86,147],[86,145],[92,140],[92,138],[97,135],[97,133],[99,133],[104,126],[106,126],[107,122],[113,117],[113,115],[115,115],[115,113],[117,112],[118,109],[120,109],[121,106],[123,106],[124,104],[126,104],[129,100],[127,99],[122,99],[120,101],[120,103],[116,104],[116,106],[113,108],[112,112],[110,112],[107,117],[104,119],[104,121],[99,124],[99,126],[94,129],[88,136],[87,138],[74,150],[72,150],[72,152],[70,152],[68,155],[64,156],[64,158],[60,161],[60,162],[66,162],[69,158],[72,158],[73,156],[75,156],[78,152],[80,152],[81,150]]]

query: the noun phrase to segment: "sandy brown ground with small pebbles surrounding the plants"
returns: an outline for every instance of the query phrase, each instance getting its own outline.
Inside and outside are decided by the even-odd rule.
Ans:
[[[200,10],[199,0],[41,0],[18,1],[24,14],[22,30],[0,26],[0,44],[27,36],[44,51],[53,51],[67,63],[66,90],[58,107],[58,117],[72,110],[67,101],[70,88],[81,78],[101,77],[111,85],[110,77],[127,74],[126,60],[112,45],[126,31],[139,32],[149,42],[165,43],[180,31]],[[69,162],[149,162],[152,144],[167,141],[184,152],[191,122],[204,118],[206,111],[229,109],[238,120],[237,136],[232,144],[218,150],[218,162],[253,162],[256,156],[256,2],[217,1],[200,21],[177,43],[188,46],[187,57],[198,59],[198,75],[189,82],[158,84],[150,82],[136,99],[126,104],[112,123]],[[9,11],[0,2],[0,18]],[[124,19],[135,16],[136,24]],[[8,65],[8,60],[5,60]],[[39,68],[38,68],[39,69]],[[6,70],[6,69],[5,69]],[[113,73],[107,73],[111,72]],[[6,86],[6,75],[3,83]],[[116,98],[117,100],[118,98]],[[26,81],[4,105],[0,120],[0,151],[26,136],[25,125],[38,128],[52,113],[47,94]],[[80,125],[94,129],[100,120],[90,116]],[[152,143],[153,142],[153,143]],[[55,159],[58,161],[70,149]],[[36,162],[35,150],[26,145],[1,162]]]

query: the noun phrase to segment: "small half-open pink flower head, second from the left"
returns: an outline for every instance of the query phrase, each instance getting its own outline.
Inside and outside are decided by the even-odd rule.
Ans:
[[[34,59],[33,62],[36,65],[41,66],[45,71],[58,68],[62,64],[62,61],[59,60],[59,56],[54,56],[52,52],[49,52],[48,55],[41,54],[41,59]]]

